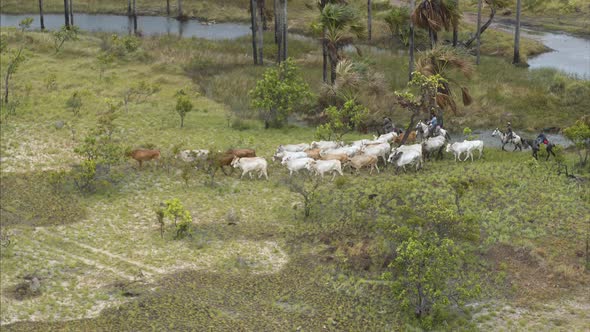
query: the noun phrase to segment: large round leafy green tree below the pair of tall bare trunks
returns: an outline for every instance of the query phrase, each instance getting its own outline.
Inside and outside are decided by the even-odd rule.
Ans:
[[[265,128],[278,128],[287,117],[309,101],[311,92],[292,59],[264,72],[249,92],[252,108],[258,109]]]

